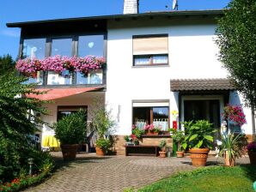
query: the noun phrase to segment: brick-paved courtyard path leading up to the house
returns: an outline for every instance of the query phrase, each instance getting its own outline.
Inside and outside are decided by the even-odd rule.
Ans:
[[[192,170],[189,158],[155,157],[97,157],[94,154],[78,154],[75,161],[64,162],[61,153],[52,153],[58,170],[45,183],[26,191],[123,191],[140,188],[178,171]],[[223,159],[209,158],[208,165],[221,164]],[[236,160],[248,164],[248,157]]]

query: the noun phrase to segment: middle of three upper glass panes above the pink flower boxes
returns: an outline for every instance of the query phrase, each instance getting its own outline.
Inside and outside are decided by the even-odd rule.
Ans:
[[[52,56],[72,56],[72,39],[52,39]]]

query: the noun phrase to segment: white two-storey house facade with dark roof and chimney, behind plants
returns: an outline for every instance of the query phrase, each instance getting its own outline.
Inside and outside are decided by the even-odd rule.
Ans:
[[[39,96],[53,100],[47,105],[51,115],[42,119],[52,124],[82,107],[90,122],[93,100],[101,99],[117,123],[118,154],[124,153],[123,137],[131,134],[133,124],[143,129],[152,123],[162,129],[160,135],[144,135],[143,145],[158,145],[162,138],[171,145],[167,131],[176,120],[206,119],[220,129],[223,107],[242,105],[216,56],[216,19],[222,10],[137,14],[137,2],[125,2],[124,15],[7,24],[21,27],[21,58],[106,58],[106,68],[89,70],[86,76],[45,71],[30,78],[40,81],[39,89],[50,89]],[[247,123],[239,127],[230,122],[229,129],[243,131],[251,140],[255,118],[250,109],[242,109]],[[179,111],[179,117],[172,111]],[[54,135],[46,125],[42,129],[41,138]]]

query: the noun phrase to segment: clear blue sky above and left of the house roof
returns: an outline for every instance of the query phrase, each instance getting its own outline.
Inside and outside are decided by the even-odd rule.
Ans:
[[[178,0],[179,10],[222,9],[229,0]],[[19,28],[6,27],[7,22],[39,21],[91,15],[122,14],[124,0],[1,0],[0,56],[18,54]],[[168,10],[173,0],[140,0],[140,13]],[[168,5],[168,8],[166,8]]]

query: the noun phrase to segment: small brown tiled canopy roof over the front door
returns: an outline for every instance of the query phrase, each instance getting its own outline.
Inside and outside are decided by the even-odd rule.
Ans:
[[[235,90],[228,79],[181,79],[171,80],[171,91]]]

